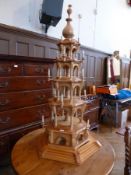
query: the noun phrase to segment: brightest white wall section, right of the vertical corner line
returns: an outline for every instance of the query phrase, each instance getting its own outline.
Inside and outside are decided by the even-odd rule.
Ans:
[[[95,47],[108,52],[120,50],[129,56],[131,50],[131,7],[126,0],[98,0]]]

